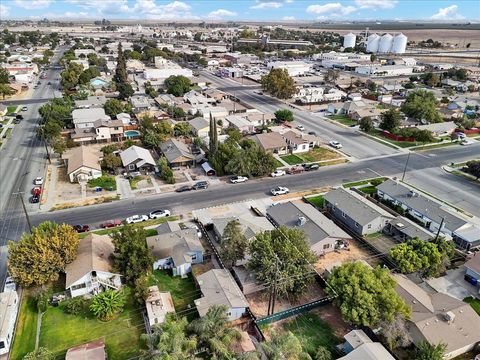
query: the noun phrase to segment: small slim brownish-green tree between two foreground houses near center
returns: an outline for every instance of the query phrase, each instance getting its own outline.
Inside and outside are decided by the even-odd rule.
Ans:
[[[220,241],[220,255],[230,267],[235,266],[237,261],[245,259],[248,241],[243,234],[238,220],[230,221],[222,234]]]

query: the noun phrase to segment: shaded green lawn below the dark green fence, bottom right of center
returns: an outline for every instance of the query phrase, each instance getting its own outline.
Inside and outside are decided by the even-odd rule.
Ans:
[[[314,356],[319,346],[329,350],[341,342],[334,330],[323,321],[319,312],[310,311],[294,317],[283,324],[283,329],[291,331],[302,343],[303,349]]]

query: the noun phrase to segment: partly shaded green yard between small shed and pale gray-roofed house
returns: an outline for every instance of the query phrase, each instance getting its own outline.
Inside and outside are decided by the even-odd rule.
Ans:
[[[186,279],[180,276],[171,276],[167,270],[155,270],[148,280],[150,286],[157,285],[160,291],[169,291],[172,295],[175,311],[183,312],[190,318],[192,312],[185,310],[193,307],[193,301],[201,296],[200,290],[195,286],[192,274]],[[193,310],[192,310],[193,311]],[[196,316],[196,314],[194,314]]]

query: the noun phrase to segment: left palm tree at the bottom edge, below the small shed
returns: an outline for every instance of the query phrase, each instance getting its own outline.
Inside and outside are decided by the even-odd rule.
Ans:
[[[147,350],[142,351],[142,360],[193,360],[196,359],[197,340],[187,336],[186,318],[176,320],[172,314],[165,322],[153,327],[152,334],[142,335]]]

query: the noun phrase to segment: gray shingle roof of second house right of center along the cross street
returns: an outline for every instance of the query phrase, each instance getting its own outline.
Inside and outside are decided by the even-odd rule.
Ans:
[[[362,226],[367,225],[379,216],[393,218],[381,207],[352,190],[344,188],[331,190],[324,195],[324,199]]]

